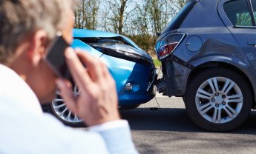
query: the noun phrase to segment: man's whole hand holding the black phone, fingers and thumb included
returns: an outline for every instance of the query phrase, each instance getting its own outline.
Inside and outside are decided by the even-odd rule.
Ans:
[[[80,91],[80,95],[75,98],[70,82],[57,79],[56,83],[68,108],[88,126],[119,119],[116,84],[108,67],[88,53],[71,48],[65,51],[65,58]]]

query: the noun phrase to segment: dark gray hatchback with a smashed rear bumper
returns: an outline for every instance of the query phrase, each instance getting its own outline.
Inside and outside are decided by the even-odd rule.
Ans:
[[[255,18],[256,0],[189,1],[157,39],[158,89],[205,130],[232,130],[255,109]]]

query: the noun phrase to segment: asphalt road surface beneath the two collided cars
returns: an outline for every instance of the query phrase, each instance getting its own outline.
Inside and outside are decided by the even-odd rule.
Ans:
[[[151,110],[157,107],[159,110]],[[256,111],[229,133],[209,133],[188,118],[182,98],[157,96],[135,110],[121,112],[129,121],[140,153],[256,153]]]

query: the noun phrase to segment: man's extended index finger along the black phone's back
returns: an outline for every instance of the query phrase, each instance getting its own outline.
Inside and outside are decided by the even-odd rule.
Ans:
[[[79,60],[78,56],[76,55],[76,52],[71,48],[68,48],[65,51],[65,58],[66,58],[70,73],[74,81],[76,82],[77,86],[79,87],[79,89],[80,90],[86,89],[88,84],[91,83],[91,78],[88,75],[87,71],[85,70],[85,67],[82,65],[81,61]]]

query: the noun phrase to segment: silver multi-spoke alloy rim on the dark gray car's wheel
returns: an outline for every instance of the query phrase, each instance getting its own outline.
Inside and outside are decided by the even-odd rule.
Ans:
[[[197,89],[195,103],[203,118],[223,124],[232,121],[242,110],[243,94],[231,79],[214,77],[204,81]]]

